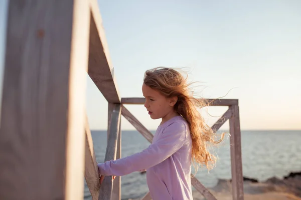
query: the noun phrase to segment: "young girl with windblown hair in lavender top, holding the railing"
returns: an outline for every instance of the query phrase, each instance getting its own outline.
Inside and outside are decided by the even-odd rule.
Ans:
[[[197,107],[203,100],[188,92],[189,84],[180,72],[158,67],[147,70],[142,92],[150,118],[162,118],[153,143],[141,152],[98,163],[104,175],[125,175],[146,169],[146,179],[153,200],[193,199],[191,161],[208,168],[215,157],[207,150],[214,142],[214,132],[204,122]],[[218,141],[219,142],[219,141]]]

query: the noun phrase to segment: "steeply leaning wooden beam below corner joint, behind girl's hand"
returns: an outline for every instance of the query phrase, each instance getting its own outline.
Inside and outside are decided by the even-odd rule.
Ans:
[[[116,159],[117,139],[119,133],[119,124],[121,117],[121,104],[114,104],[112,111],[112,120],[110,123],[110,133],[105,153],[105,161]],[[112,176],[105,176],[99,190],[99,200],[111,199],[113,189]]]

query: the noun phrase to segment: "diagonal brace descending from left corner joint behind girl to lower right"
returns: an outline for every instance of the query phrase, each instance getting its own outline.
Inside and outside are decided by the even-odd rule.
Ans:
[[[138,121],[138,119],[132,113],[130,113],[123,105],[121,108],[121,114],[138,130],[138,132],[140,132],[150,143],[152,143],[154,137],[152,132],[147,130],[147,128],[144,127]],[[196,177],[191,178],[191,183],[207,199],[216,200],[213,194]],[[144,197],[148,199],[147,196],[148,195],[146,194]]]

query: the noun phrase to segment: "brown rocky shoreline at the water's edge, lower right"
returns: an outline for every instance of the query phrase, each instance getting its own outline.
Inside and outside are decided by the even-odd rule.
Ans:
[[[265,181],[244,177],[243,187],[245,200],[301,200],[301,172],[290,172],[281,179],[271,177]],[[218,200],[232,200],[231,179],[219,179],[217,185],[209,190]],[[196,190],[193,190],[193,197],[194,200],[205,200]]]

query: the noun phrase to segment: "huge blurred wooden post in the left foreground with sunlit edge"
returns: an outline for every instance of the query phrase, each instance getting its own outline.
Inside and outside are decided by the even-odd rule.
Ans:
[[[85,0],[10,0],[0,199],[82,199],[90,13]]]

